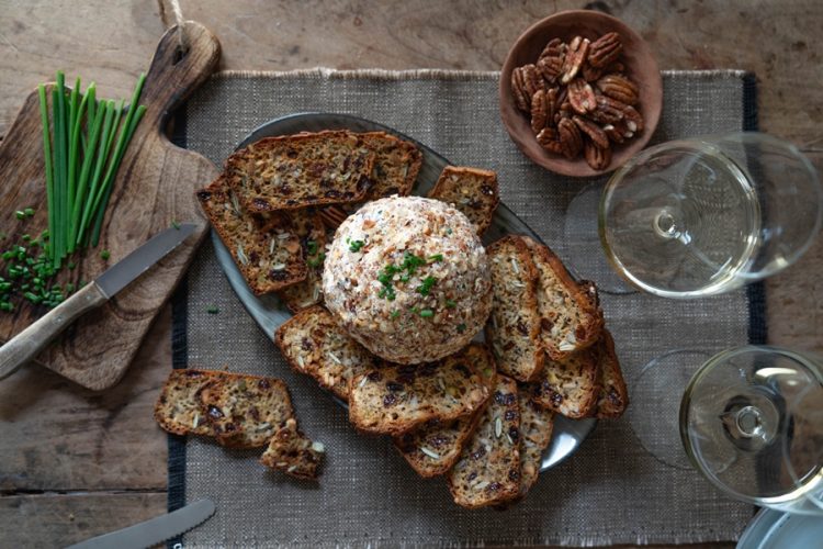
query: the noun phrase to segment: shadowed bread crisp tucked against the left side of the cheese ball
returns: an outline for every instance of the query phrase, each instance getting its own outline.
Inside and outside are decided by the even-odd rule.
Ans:
[[[301,309],[323,301],[323,261],[326,258],[326,227],[318,213],[312,210],[297,210],[290,215],[295,234],[306,258],[306,279],[284,288],[278,295],[286,306],[296,313]]]

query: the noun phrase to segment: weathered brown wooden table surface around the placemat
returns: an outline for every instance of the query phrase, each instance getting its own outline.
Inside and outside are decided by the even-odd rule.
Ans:
[[[223,44],[222,68],[499,69],[532,22],[563,9],[611,13],[664,69],[742,68],[758,80],[762,130],[823,168],[819,0],[183,0]],[[0,0],[0,136],[57,69],[127,97],[171,23],[164,0]],[[1,183],[0,183],[1,184]],[[768,282],[770,343],[823,349],[823,238]],[[0,382],[0,547],[52,547],[166,509],[166,436],[151,419],[170,369],[170,312],[123,381],[102,394],[41,368]],[[710,544],[702,547],[731,547]]]

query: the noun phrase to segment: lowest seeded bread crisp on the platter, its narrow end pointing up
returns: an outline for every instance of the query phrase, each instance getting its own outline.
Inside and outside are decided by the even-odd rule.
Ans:
[[[497,376],[480,424],[449,472],[454,503],[475,508],[506,503],[520,491],[520,414],[517,383]]]

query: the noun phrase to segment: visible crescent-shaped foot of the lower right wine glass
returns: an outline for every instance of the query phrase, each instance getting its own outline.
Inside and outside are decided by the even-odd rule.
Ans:
[[[710,357],[700,350],[673,350],[653,359],[630,381],[629,425],[643,449],[669,467],[692,469],[680,441],[680,397]]]

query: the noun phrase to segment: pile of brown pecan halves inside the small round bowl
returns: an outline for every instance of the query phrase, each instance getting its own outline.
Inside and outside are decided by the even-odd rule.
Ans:
[[[572,159],[583,153],[596,170],[608,167],[612,144],[643,131],[634,105],[638,86],[620,63],[618,33],[594,42],[575,36],[568,44],[551,40],[535,64],[511,72],[517,108],[531,116],[538,143]]]

